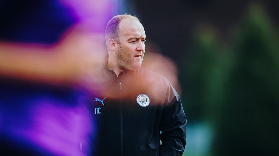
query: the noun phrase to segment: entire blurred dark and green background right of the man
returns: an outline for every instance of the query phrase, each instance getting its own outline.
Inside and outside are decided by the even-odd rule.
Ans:
[[[155,41],[178,67],[188,119],[184,156],[279,155],[277,2],[134,5],[146,53]]]

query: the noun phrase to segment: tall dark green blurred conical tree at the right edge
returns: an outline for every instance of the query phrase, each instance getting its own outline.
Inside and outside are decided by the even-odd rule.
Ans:
[[[252,4],[234,36],[235,54],[214,155],[278,155],[278,32]]]

